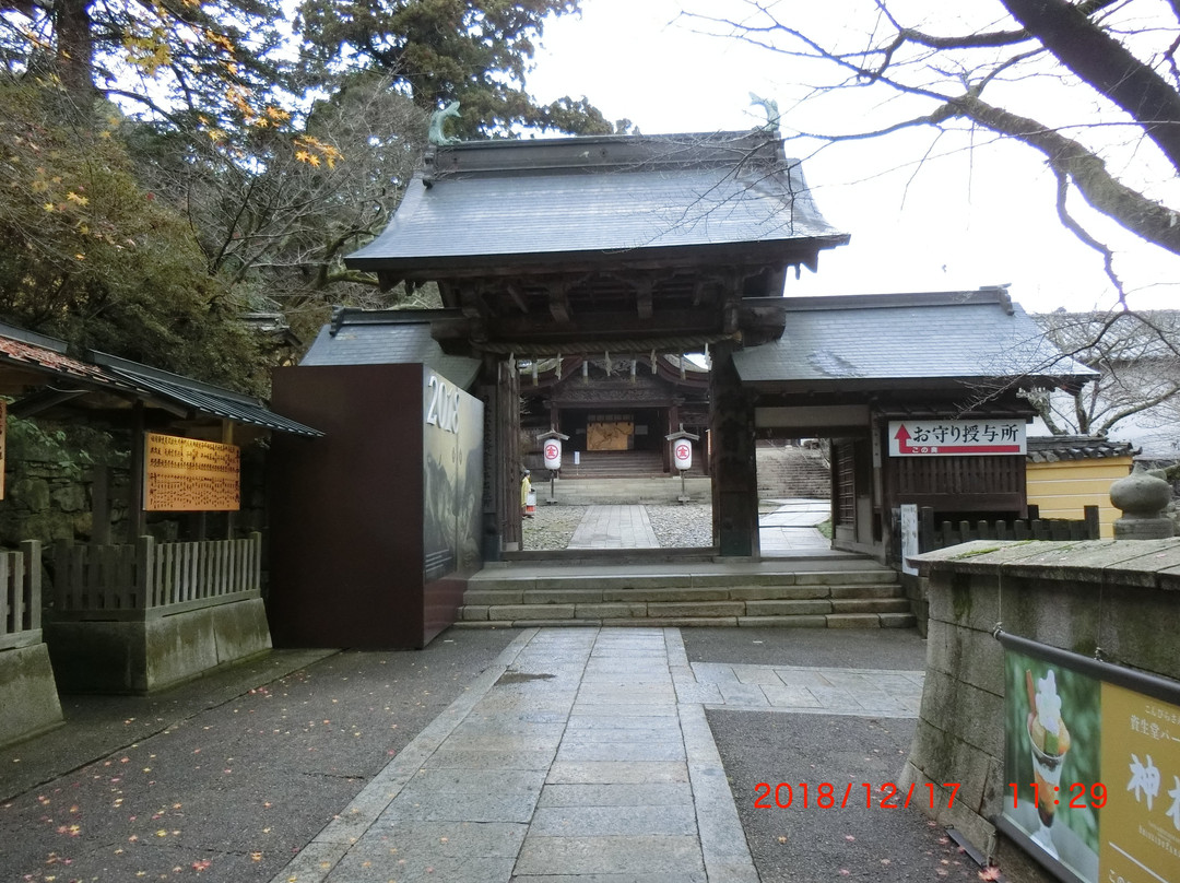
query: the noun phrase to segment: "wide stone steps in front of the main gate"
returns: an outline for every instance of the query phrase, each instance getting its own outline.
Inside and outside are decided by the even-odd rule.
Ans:
[[[865,560],[490,565],[458,626],[910,628],[897,574]]]

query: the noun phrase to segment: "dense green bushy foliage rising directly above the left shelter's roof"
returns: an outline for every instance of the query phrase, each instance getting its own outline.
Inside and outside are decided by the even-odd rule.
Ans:
[[[97,129],[57,85],[0,78],[0,319],[232,386],[256,347],[183,217],[136,182],[107,109]],[[88,118],[87,118],[88,119]]]

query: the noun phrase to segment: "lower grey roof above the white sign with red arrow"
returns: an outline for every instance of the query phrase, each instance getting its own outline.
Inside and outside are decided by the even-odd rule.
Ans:
[[[788,299],[782,338],[734,364],[746,382],[811,386],[1097,375],[1062,355],[1001,289]]]

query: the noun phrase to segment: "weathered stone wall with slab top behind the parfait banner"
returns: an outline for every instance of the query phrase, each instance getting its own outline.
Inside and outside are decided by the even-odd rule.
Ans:
[[[931,812],[1012,881],[1049,881],[991,818],[1004,781],[1004,654],[1010,634],[1180,680],[1180,539],[974,542],[918,558],[930,603],[926,683],[906,781],[936,783]],[[959,783],[948,807],[940,783]]]

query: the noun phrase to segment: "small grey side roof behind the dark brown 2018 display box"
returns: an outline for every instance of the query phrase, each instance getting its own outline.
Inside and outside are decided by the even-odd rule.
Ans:
[[[466,390],[479,360],[447,355],[431,336],[427,320],[399,318],[396,310],[341,310],[320,329],[300,365],[412,365],[420,362]]]

